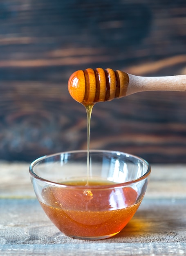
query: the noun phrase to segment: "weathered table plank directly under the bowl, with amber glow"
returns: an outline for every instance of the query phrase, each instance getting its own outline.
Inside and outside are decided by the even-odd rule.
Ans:
[[[186,243],[186,199],[144,199],[128,225],[113,238],[74,240],[45,216],[37,200],[0,200],[0,244]]]

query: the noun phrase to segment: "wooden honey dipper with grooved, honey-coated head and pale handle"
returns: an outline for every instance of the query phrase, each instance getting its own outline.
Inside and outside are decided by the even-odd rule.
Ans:
[[[134,76],[110,68],[74,72],[68,81],[70,95],[83,105],[111,101],[143,91],[186,91],[186,75]]]

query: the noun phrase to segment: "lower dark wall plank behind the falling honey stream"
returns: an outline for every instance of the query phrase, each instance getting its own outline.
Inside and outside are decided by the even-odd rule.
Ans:
[[[41,155],[87,148],[85,108],[70,98],[67,84],[2,86],[2,159],[32,161]],[[184,105],[185,94],[179,92],[140,93],[98,103],[92,112],[90,147],[132,153],[152,163],[184,163]]]

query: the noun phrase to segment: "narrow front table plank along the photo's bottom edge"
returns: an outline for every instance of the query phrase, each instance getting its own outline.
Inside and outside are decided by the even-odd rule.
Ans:
[[[119,243],[119,244],[63,244],[63,245],[5,245],[0,247],[0,255],[81,255],[81,256],[182,256],[186,251],[186,243]],[[74,254],[75,253],[75,254]]]

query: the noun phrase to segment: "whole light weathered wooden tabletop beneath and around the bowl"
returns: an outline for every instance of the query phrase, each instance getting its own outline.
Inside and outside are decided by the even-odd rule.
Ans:
[[[27,163],[0,162],[0,255],[186,255],[186,166],[152,165],[148,190],[113,238],[76,240],[36,200]]]

